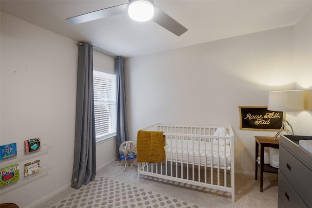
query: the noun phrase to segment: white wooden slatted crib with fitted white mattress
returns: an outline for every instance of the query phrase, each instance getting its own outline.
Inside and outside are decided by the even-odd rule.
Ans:
[[[166,160],[138,163],[138,179],[146,175],[226,191],[234,202],[234,133],[227,126],[226,136],[214,136],[219,127],[154,124],[140,129],[164,132]]]

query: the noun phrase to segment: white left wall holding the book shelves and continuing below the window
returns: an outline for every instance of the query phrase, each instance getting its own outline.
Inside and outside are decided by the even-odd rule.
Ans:
[[[48,154],[34,158],[48,164],[47,176],[10,192],[0,190],[1,203],[25,208],[71,184],[78,46],[2,12],[0,32],[0,145],[17,142],[23,150],[24,140],[40,137],[49,147]],[[97,145],[98,167],[116,157],[112,150],[115,140]]]

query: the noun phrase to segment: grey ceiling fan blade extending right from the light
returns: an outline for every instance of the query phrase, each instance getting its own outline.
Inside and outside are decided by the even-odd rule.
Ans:
[[[164,11],[162,11],[155,5],[154,8],[154,17],[152,18],[152,20],[155,21],[157,24],[176,34],[177,36],[180,36],[188,31],[188,29],[186,29],[183,25],[178,23],[175,19],[167,15]]]

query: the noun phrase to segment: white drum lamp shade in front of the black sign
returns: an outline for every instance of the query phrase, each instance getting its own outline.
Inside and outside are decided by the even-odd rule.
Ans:
[[[303,111],[303,91],[270,91],[268,101],[269,111]]]

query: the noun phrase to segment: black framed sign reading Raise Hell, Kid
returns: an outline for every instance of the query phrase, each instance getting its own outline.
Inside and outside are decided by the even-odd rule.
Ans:
[[[239,106],[239,128],[257,131],[278,131],[283,112],[269,111],[267,106]]]

